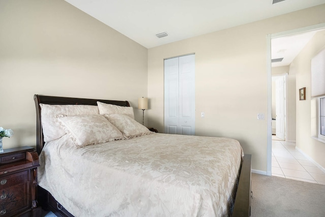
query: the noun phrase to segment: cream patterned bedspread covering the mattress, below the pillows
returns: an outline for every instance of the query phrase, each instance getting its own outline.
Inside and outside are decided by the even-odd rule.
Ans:
[[[40,154],[39,185],[74,216],[228,216],[243,156],[237,140],[150,134]]]

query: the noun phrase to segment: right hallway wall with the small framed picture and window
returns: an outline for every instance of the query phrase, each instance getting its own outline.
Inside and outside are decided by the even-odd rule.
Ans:
[[[322,168],[325,168],[325,144],[313,139],[317,134],[317,122],[315,119],[315,100],[311,100],[310,84],[310,60],[321,49],[325,48],[325,31],[317,33],[305,46],[300,54],[290,65],[290,73],[297,75],[296,100],[297,100],[297,147],[308,157],[314,160]],[[298,90],[306,87],[306,100],[300,101]]]

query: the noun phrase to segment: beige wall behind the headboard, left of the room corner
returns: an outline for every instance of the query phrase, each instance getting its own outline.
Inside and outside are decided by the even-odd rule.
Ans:
[[[0,74],[0,127],[15,132],[4,148],[35,146],[34,94],[137,107],[147,96],[147,49],[63,0],[1,0]]]

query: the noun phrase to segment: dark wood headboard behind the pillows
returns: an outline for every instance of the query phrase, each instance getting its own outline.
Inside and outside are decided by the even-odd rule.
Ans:
[[[42,117],[41,117],[41,107],[42,104],[50,105],[97,105],[97,101],[107,104],[113,104],[118,106],[127,106],[130,104],[127,101],[115,101],[115,100],[96,100],[96,99],[82,99],[82,98],[70,98],[70,97],[51,97],[34,95],[34,101],[36,106],[36,147],[37,152],[40,154],[44,145],[44,136],[42,129]]]

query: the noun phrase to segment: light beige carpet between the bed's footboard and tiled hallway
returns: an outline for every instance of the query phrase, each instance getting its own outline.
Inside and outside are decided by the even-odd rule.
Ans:
[[[325,185],[252,173],[251,216],[325,216]]]

